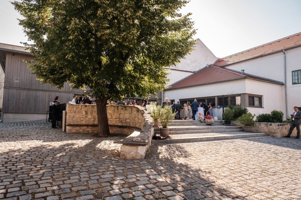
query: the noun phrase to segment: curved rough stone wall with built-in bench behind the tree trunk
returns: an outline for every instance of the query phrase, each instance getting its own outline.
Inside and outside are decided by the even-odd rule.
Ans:
[[[66,107],[67,133],[97,133],[96,105],[68,103]],[[122,133],[127,138],[121,143],[120,157],[141,159],[151,146],[154,135],[154,120],[151,114],[141,106],[107,106],[110,133]]]

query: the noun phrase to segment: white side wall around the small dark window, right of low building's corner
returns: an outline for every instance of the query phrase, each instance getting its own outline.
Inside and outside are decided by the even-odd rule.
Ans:
[[[247,79],[246,93],[262,95],[262,108],[247,107],[252,114],[270,113],[272,110],[280,110],[285,113],[284,85]]]

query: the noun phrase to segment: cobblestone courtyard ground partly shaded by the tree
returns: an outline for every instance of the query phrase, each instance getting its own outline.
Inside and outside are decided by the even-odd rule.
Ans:
[[[0,199],[301,199],[301,140],[272,137],[153,145],[146,159],[120,145],[0,123]]]

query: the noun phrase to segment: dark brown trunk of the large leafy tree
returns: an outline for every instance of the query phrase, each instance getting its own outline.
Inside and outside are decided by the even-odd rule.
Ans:
[[[98,98],[96,100],[98,136],[105,137],[110,135],[109,122],[107,115],[107,98]]]

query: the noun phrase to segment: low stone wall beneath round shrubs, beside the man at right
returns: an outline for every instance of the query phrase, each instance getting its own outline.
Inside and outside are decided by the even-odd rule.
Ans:
[[[231,121],[231,125],[243,126],[238,121]],[[281,138],[287,135],[289,129],[290,129],[289,123],[255,122],[255,125],[252,127],[252,132],[268,133],[269,136]],[[296,129],[294,129],[291,136],[296,136],[296,135],[297,135],[297,131]]]

